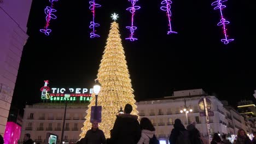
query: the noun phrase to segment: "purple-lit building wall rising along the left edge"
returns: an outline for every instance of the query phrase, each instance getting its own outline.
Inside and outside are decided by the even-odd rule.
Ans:
[[[4,135],[32,0],[0,1],[0,134]]]

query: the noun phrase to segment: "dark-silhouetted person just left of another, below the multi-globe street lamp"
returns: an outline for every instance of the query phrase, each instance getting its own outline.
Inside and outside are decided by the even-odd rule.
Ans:
[[[179,131],[185,131],[185,130],[187,130],[187,129],[185,129],[184,125],[181,122],[181,119],[179,119],[179,118],[175,119],[174,124],[173,124],[173,129],[172,129],[171,135],[169,137],[169,142],[171,144],[176,144],[176,141],[179,136]]]

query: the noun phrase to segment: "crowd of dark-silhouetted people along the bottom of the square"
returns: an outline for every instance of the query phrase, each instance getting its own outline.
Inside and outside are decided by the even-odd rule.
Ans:
[[[155,128],[149,118],[143,117],[138,122],[138,116],[131,115],[132,106],[126,104],[124,113],[119,113],[115,119],[113,129],[110,130],[110,138],[106,139],[102,130],[98,129],[98,122],[92,122],[92,128],[88,130],[85,137],[77,141],[77,144],[151,144],[155,137]],[[246,131],[239,129],[236,140],[231,143],[226,135],[221,137],[214,133],[211,143],[208,142],[196,128],[196,122],[188,124],[185,128],[181,119],[175,119],[173,129],[169,137],[170,144],[256,144],[256,131],[253,139],[249,139]],[[3,142],[0,141],[0,144]],[[30,134],[24,135],[23,144],[33,144]],[[156,144],[159,141],[156,139]]]

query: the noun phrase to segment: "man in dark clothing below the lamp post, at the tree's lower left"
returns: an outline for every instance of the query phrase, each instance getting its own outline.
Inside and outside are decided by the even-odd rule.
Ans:
[[[81,144],[106,144],[106,137],[102,130],[98,129],[98,122],[92,122],[92,128],[88,130],[78,143]]]

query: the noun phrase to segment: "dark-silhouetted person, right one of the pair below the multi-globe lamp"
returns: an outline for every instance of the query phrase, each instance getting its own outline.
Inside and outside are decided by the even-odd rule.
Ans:
[[[187,125],[191,144],[202,144],[200,131],[195,127],[196,122]]]

